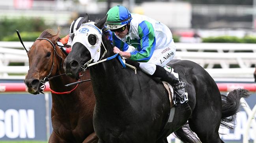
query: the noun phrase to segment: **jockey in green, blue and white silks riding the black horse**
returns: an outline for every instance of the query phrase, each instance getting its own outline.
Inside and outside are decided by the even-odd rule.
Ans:
[[[114,47],[114,53],[139,62],[142,71],[170,83],[179,96],[184,97],[186,84],[163,68],[176,53],[172,33],[166,25],[144,15],[131,14],[120,5],[109,9],[106,24],[121,43],[133,48],[125,52],[123,47]]]

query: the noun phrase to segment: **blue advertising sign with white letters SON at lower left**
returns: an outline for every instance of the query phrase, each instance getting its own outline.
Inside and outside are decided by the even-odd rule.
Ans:
[[[47,140],[43,94],[0,94],[0,140]]]

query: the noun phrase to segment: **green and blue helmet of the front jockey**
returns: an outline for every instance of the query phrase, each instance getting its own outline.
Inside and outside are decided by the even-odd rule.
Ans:
[[[109,29],[118,29],[129,24],[132,19],[126,7],[117,5],[108,10],[106,24]]]

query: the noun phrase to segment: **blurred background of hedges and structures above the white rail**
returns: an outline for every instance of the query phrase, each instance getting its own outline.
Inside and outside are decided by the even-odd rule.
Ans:
[[[108,9],[124,5],[132,13],[150,16],[166,24],[176,42],[255,43],[255,0],[0,0],[0,40],[13,40],[20,29],[34,36],[45,28],[62,27],[68,33],[71,22],[85,13],[90,18],[103,18]],[[8,25],[8,26],[7,26]],[[226,36],[220,39],[204,39]],[[232,37],[235,36],[235,37]],[[34,38],[34,37],[33,37]],[[34,39],[30,41],[34,41]],[[177,38],[177,39],[176,39]],[[248,38],[252,38],[248,40]],[[233,41],[232,41],[233,40]]]

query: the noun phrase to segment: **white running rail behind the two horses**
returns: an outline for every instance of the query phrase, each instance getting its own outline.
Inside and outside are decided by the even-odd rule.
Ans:
[[[32,44],[33,42],[24,42],[28,49]],[[213,78],[253,78],[254,68],[252,65],[256,63],[256,53],[254,53],[256,44],[176,43],[176,47],[176,59],[191,60],[200,64]],[[234,52],[242,49],[249,52]],[[216,52],[203,52],[204,50],[215,50]],[[24,63],[25,66],[11,67],[9,63],[12,62]],[[219,64],[222,69],[213,69],[216,64]],[[241,68],[229,68],[231,64],[238,64]],[[8,73],[25,74],[27,70],[28,57],[21,43],[0,42],[0,78],[10,77]]]

